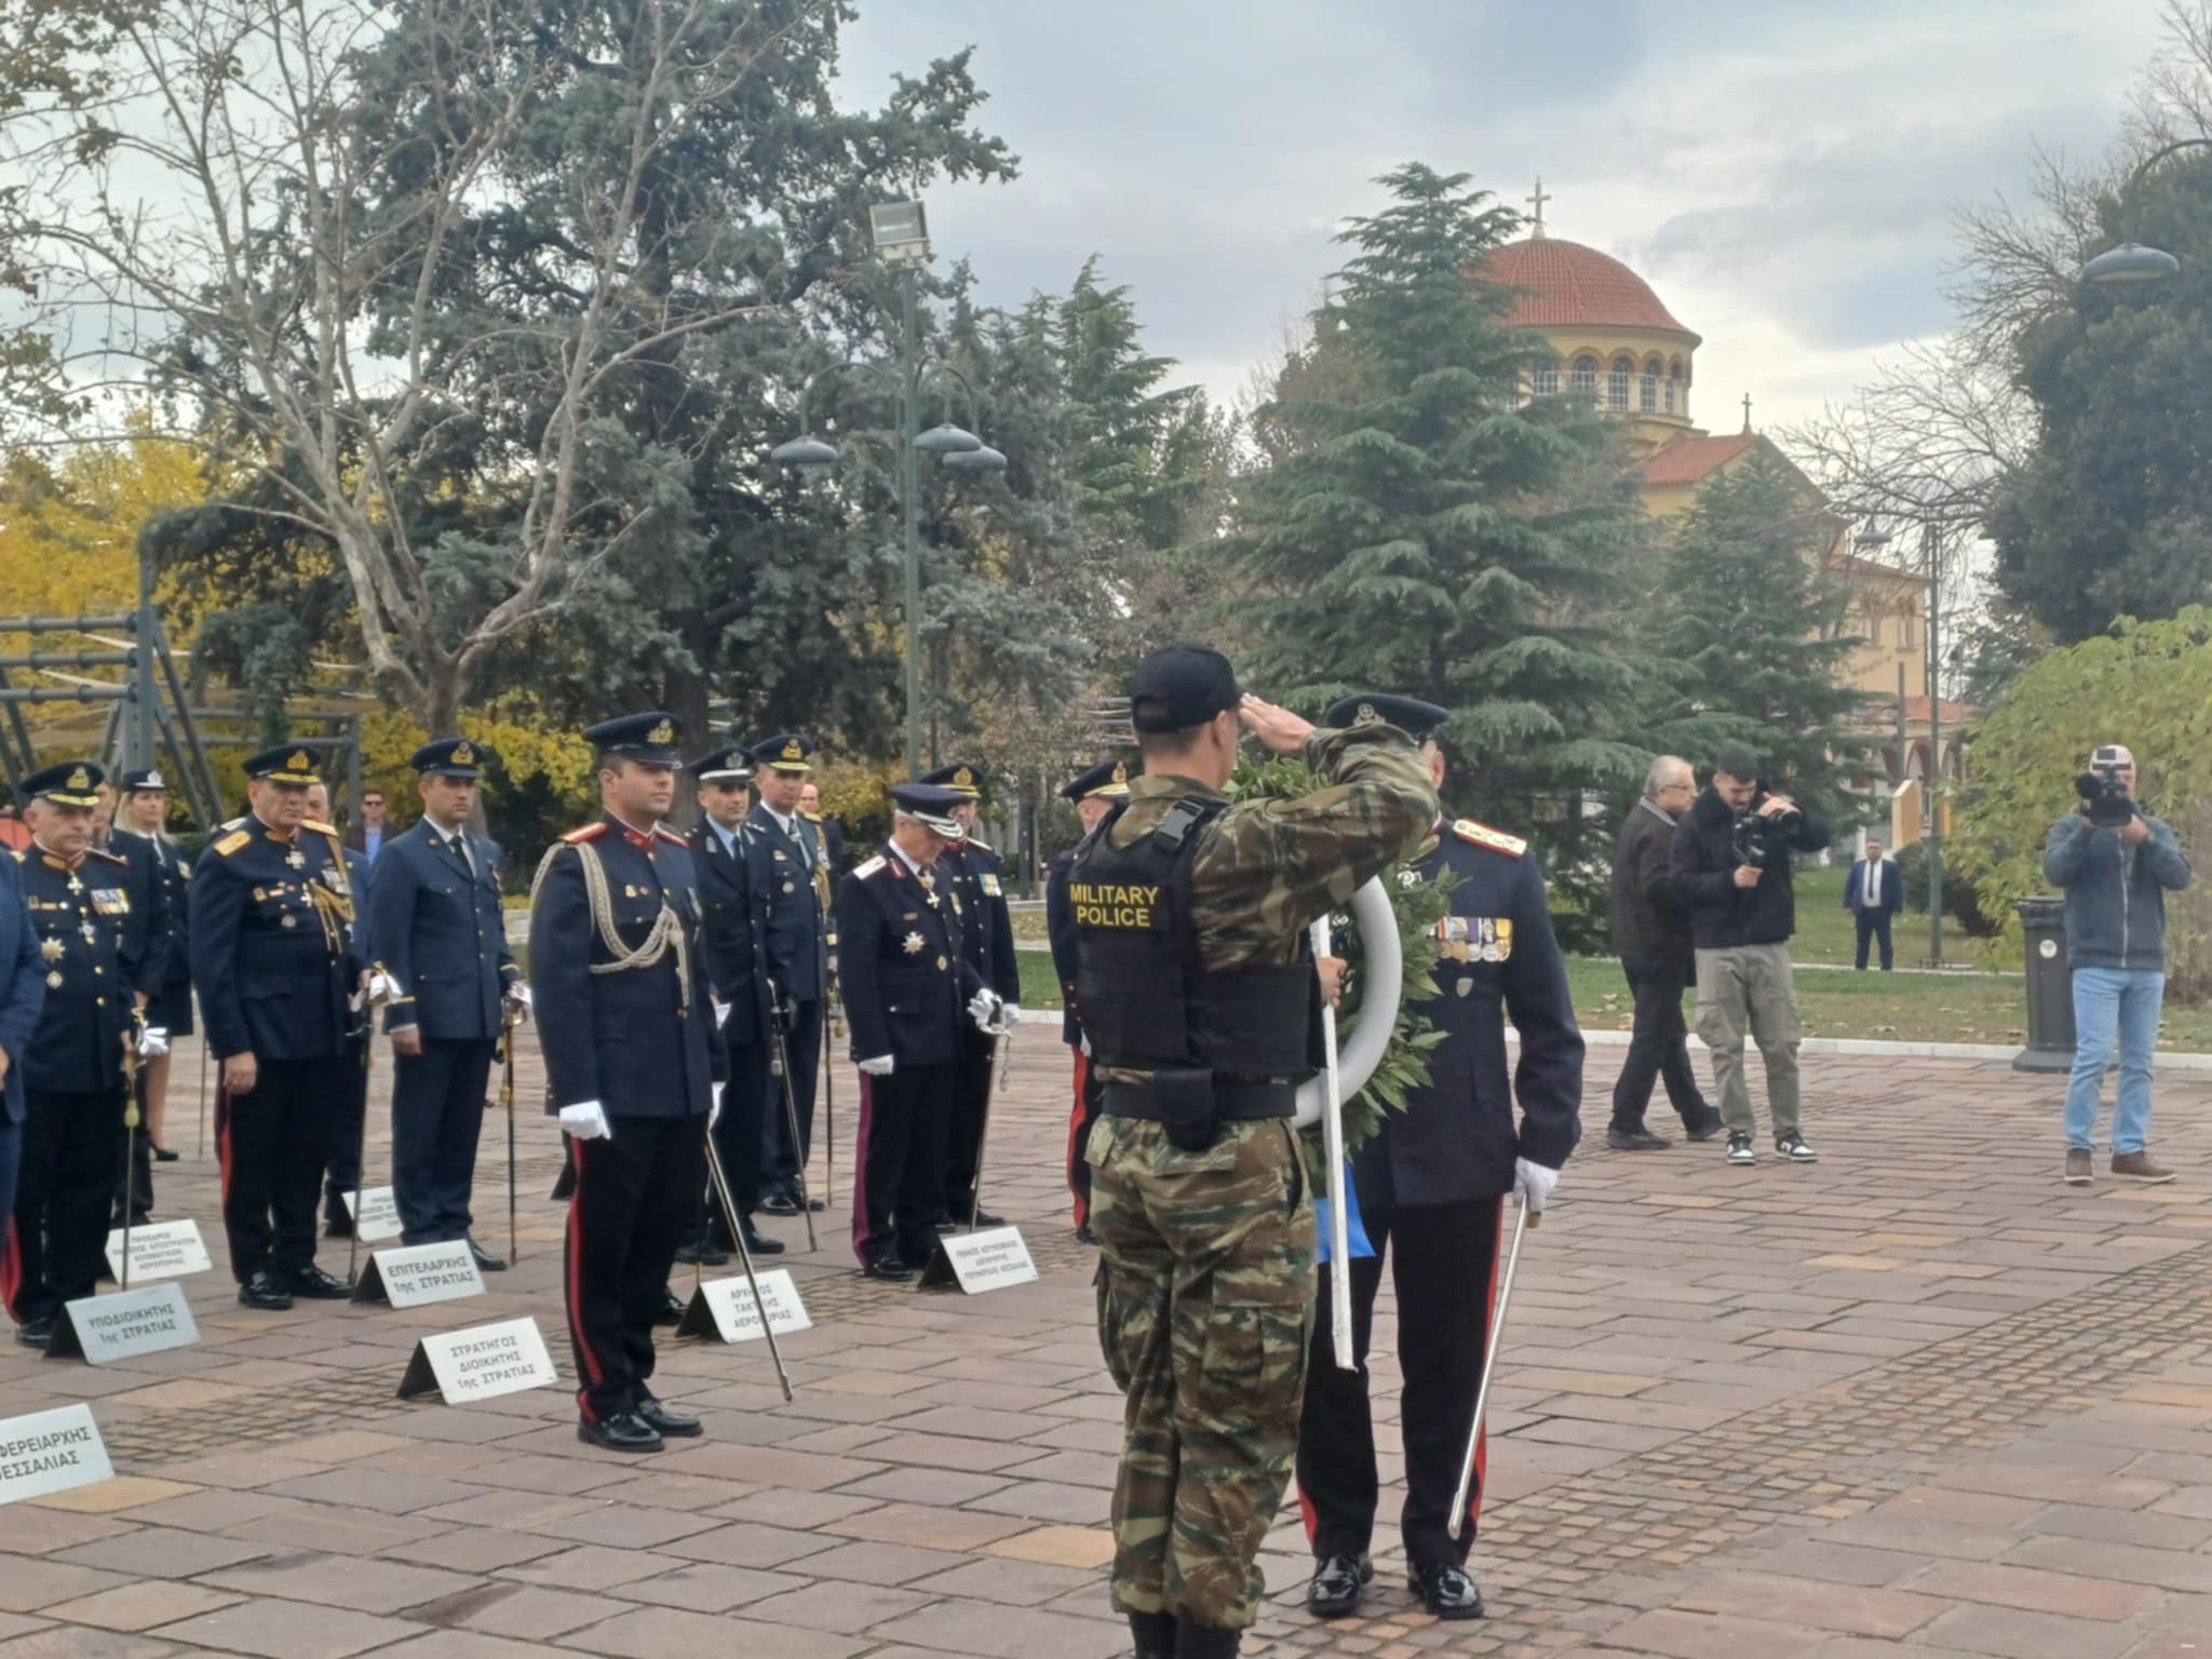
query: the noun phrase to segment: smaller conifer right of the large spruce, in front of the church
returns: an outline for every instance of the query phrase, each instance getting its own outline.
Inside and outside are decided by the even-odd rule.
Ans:
[[[1765,447],[1721,469],[1674,529],[1648,624],[1666,699],[1652,750],[1756,754],[1767,781],[1834,816],[1863,750],[1867,701],[1840,679],[1860,644],[1840,633],[1843,584],[1825,566],[1838,520]]]

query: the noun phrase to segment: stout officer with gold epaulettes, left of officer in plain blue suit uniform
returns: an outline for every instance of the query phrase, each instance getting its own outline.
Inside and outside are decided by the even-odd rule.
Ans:
[[[248,814],[192,867],[192,987],[221,1062],[230,1272],[246,1307],[281,1310],[347,1294],[314,1265],[314,1194],[336,1104],[356,1088],[347,1004],[361,971],[338,832],[307,816],[314,754],[279,743],[248,757],[246,779]]]

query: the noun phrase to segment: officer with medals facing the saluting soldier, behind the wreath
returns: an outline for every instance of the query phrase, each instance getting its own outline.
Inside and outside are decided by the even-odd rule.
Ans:
[[[1347,697],[1329,726],[1385,719],[1420,739],[1431,781],[1442,787],[1436,728],[1447,710],[1413,697]],[[1498,1294],[1498,1225],[1506,1192],[1533,1210],[1559,1179],[1582,1135],[1582,1031],[1566,964],[1551,931],[1544,874],[1528,843],[1471,818],[1444,825],[1398,880],[1455,878],[1451,916],[1440,922],[1438,998],[1422,1013],[1444,1033],[1429,1051],[1429,1086],[1385,1113],[1383,1130],[1354,1157],[1360,1219],[1376,1254],[1352,1263],[1356,1371],[1329,1356],[1314,1332],[1305,1413],[1298,1425],[1298,1495],[1316,1573],[1307,1606],[1340,1617],[1374,1577],[1367,1544],[1376,1517],[1376,1449],[1367,1409],[1367,1336],[1383,1261],[1398,1292],[1398,1402],[1407,1498],[1400,1517],[1413,1593],[1440,1619],[1482,1617],[1482,1590],[1467,1551],[1482,1509],[1482,1458],[1467,1526],[1451,1537],[1460,1458],[1473,1427],[1482,1354]],[[1520,1066],[1506,1084],[1504,1018],[1520,1033]],[[1513,1097],[1522,1119],[1513,1124]],[[1329,1274],[1321,1267],[1321,1305]]]

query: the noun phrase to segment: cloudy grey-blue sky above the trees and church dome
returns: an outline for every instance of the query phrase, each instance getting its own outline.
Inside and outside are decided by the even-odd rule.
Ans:
[[[1705,336],[1697,416],[1847,396],[1942,334],[1951,210],[2020,195],[2031,144],[2101,150],[2159,46],[2157,0],[860,0],[845,88],[975,46],[1022,157],[940,188],[940,259],[984,294],[1091,252],[1150,343],[1221,396],[1340,261],[1398,161],[1467,170],[1635,265]],[[1526,210],[1526,208],[1524,208]]]

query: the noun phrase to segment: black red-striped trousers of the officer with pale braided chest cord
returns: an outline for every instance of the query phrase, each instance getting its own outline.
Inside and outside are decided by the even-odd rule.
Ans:
[[[703,1117],[611,1117],[613,1135],[568,1141],[575,1192],[562,1285],[577,1405],[591,1422],[630,1411],[653,1378],[653,1318],[677,1237],[706,1181]]]

